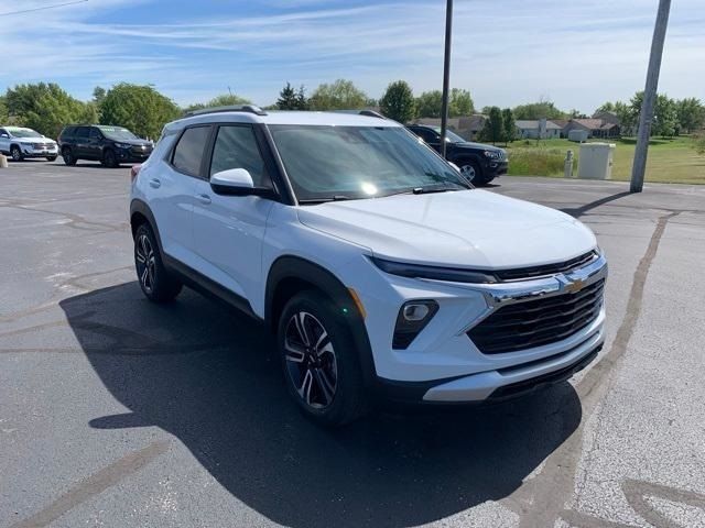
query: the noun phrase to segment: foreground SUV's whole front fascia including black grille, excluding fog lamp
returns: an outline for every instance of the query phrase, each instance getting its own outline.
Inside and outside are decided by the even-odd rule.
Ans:
[[[389,310],[388,321],[409,300],[434,299],[438,309],[399,350],[391,346],[389,323],[383,330],[382,314],[375,314],[376,302],[366,302],[381,396],[404,403],[479,403],[571,377],[603,346],[606,277],[603,256],[571,272],[499,284],[393,277],[400,298],[382,308]]]

